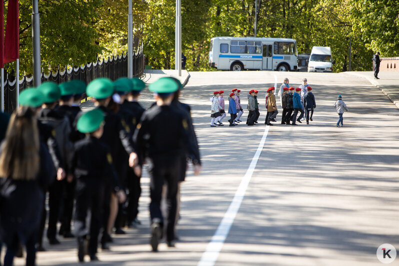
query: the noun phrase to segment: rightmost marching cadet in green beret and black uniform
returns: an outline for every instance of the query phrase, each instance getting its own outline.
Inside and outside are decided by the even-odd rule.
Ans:
[[[151,246],[157,251],[162,237],[164,219],[160,209],[162,186],[167,185],[166,243],[174,246],[174,221],[176,218],[177,182],[181,176],[181,154],[195,158],[192,139],[189,137],[189,116],[179,108],[170,106],[178,85],[170,78],[159,78],[149,85],[155,92],[156,104],[144,111],[134,132],[134,142],[139,157],[138,173],[145,158],[150,173],[149,211],[151,216]]]

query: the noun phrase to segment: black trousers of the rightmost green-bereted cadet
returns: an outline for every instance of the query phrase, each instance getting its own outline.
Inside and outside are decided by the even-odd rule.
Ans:
[[[151,222],[160,221],[164,224],[160,202],[162,198],[162,186],[165,183],[166,189],[166,241],[174,239],[174,224],[176,219],[176,195],[177,182],[181,177],[181,157],[176,156],[157,156],[151,158],[149,163],[150,174],[150,197],[149,212]]]

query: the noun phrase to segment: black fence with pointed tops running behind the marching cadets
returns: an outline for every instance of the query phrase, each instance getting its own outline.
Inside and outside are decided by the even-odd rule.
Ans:
[[[133,53],[133,76],[140,77],[143,73],[144,61],[142,48]],[[16,108],[16,80],[4,80],[4,111],[11,113]],[[127,54],[112,56],[112,58],[102,59],[95,63],[88,63],[78,67],[71,67],[55,73],[50,72],[48,75],[41,73],[41,82],[53,81],[55,83],[62,83],[72,79],[80,79],[86,84],[97,77],[108,77],[115,80],[119,77],[127,76]],[[24,76],[19,80],[19,92],[25,88],[33,86],[33,78]]]

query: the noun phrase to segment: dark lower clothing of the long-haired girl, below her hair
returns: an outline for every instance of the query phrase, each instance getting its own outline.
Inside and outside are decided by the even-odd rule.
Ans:
[[[40,166],[36,179],[13,180],[0,178],[0,234],[10,244],[14,237],[23,243],[35,233],[43,211],[44,194],[54,167],[43,142],[40,142]]]

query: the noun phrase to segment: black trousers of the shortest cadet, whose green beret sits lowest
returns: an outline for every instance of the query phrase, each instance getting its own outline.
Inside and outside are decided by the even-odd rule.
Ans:
[[[88,253],[97,252],[99,229],[101,227],[103,209],[104,182],[98,178],[82,177],[76,182],[76,209],[74,233],[77,237],[89,235]],[[108,201],[109,203],[109,201]],[[90,226],[86,224],[86,217],[90,209]]]

